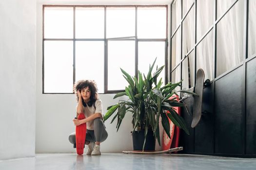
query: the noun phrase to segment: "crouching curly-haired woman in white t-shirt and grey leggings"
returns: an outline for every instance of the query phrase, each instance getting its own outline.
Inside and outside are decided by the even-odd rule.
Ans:
[[[74,92],[77,95],[77,117],[84,113],[85,119],[73,119],[76,126],[86,123],[86,140],[88,145],[86,154],[100,155],[100,143],[106,140],[108,133],[103,123],[102,103],[98,99],[98,89],[95,81],[79,80],[74,85]],[[76,133],[69,136],[69,141],[76,147]]]

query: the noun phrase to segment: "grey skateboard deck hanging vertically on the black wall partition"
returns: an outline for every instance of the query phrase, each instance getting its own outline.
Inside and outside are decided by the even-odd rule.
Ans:
[[[191,124],[192,128],[196,127],[197,123],[201,119],[203,85],[204,85],[204,72],[203,72],[203,69],[200,68],[197,70],[197,77],[196,77],[195,93],[197,93],[198,96],[194,96],[193,120]]]

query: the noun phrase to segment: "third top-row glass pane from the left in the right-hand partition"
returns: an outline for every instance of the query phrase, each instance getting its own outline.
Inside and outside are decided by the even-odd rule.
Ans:
[[[197,0],[197,42],[213,25],[214,0]]]

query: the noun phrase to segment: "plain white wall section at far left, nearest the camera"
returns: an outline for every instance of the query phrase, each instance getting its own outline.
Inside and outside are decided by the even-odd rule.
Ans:
[[[0,160],[35,156],[35,0],[0,0],[0,82]]]

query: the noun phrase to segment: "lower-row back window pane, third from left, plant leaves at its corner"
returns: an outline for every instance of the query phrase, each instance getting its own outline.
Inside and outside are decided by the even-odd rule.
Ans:
[[[120,68],[135,75],[135,41],[108,41],[108,90],[128,86]]]

